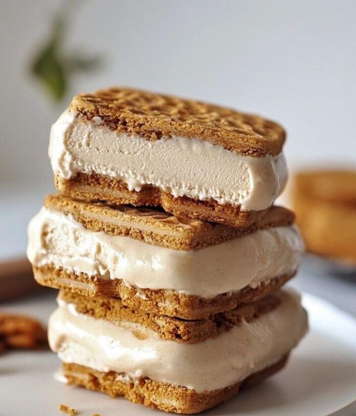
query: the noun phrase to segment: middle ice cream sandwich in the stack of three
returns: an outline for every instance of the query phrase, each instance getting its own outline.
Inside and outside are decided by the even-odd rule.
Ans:
[[[275,292],[297,271],[294,215],[273,206],[243,230],[147,207],[49,195],[29,225],[38,283],[185,319]]]

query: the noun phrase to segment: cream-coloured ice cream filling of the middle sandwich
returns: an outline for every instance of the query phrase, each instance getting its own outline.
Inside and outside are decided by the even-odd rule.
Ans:
[[[292,275],[303,252],[293,225],[270,227],[197,251],[177,251],[87,230],[72,215],[45,207],[29,224],[28,258],[127,285],[209,298]]]

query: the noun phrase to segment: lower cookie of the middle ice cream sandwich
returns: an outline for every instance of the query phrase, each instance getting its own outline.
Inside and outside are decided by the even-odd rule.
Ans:
[[[271,295],[295,273],[271,278],[255,289],[244,287],[239,292],[225,293],[213,298],[186,295],[174,290],[139,289],[127,286],[121,279],[104,280],[76,275],[53,265],[33,266],[37,283],[57,289],[71,290],[84,296],[106,296],[120,298],[122,303],[133,309],[142,309],[159,315],[180,317],[183,319],[207,319],[211,315],[236,308],[238,305],[254,302]]]

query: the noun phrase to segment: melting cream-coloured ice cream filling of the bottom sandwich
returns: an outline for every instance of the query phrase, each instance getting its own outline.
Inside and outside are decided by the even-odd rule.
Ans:
[[[142,340],[125,326],[78,314],[61,301],[50,318],[49,342],[65,363],[212,391],[272,365],[303,337],[307,318],[299,296],[286,290],[278,296],[281,304],[269,313],[193,344],[163,340],[145,328]]]

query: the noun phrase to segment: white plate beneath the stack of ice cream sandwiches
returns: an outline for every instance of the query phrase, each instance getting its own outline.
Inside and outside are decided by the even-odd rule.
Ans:
[[[303,303],[310,331],[287,367],[230,402],[204,413],[238,416],[327,416],[356,401],[356,321],[311,295]],[[52,299],[23,304],[22,311],[46,318]],[[20,310],[21,305],[10,309]],[[51,352],[12,352],[0,358],[0,415],[61,415],[60,403],[91,416],[165,414],[110,399],[104,394],[66,386],[54,380],[59,361]],[[347,414],[356,414],[354,405]],[[344,413],[343,413],[344,414]]]

